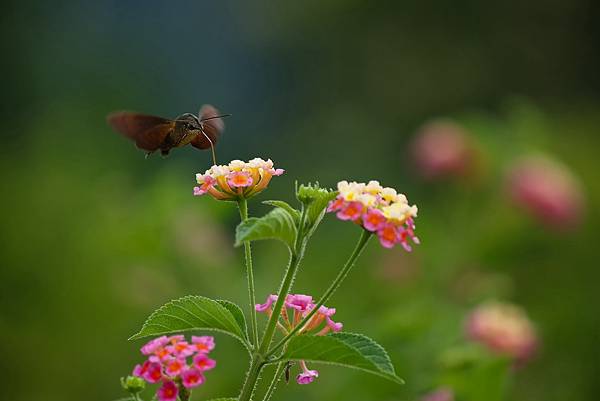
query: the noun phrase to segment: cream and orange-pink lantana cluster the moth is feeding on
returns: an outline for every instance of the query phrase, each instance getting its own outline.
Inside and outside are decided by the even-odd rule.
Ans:
[[[283,169],[273,167],[271,159],[233,160],[227,165],[214,165],[204,174],[196,174],[199,186],[194,187],[194,195],[208,193],[217,200],[248,199],[262,192],[273,176],[283,173]]]

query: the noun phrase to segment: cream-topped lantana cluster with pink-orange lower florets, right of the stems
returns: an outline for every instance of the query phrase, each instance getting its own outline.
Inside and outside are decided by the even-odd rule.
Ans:
[[[394,188],[382,187],[377,181],[368,184],[340,181],[337,187],[339,195],[329,204],[328,212],[336,212],[340,220],[353,221],[376,233],[386,248],[401,244],[410,252],[408,240],[419,243],[414,232],[418,209],[408,204],[405,195]]]

